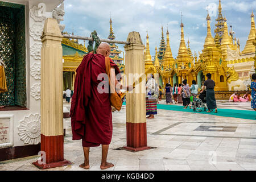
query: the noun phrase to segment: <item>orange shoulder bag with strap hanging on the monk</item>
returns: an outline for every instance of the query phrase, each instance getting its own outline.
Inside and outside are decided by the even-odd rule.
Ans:
[[[109,57],[105,57],[105,64],[106,64],[106,73],[109,77],[109,86],[110,86],[110,59]],[[118,111],[121,110],[123,100],[121,98],[121,95],[119,95],[116,91],[115,93],[110,93],[110,103],[115,109]]]

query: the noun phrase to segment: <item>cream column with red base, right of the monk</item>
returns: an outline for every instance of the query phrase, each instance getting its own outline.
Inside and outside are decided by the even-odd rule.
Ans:
[[[131,84],[134,81],[133,75],[144,73],[144,45],[139,32],[130,32],[127,42],[130,44],[125,46],[125,71],[127,83]],[[126,94],[127,146],[123,148],[129,151],[141,151],[150,148],[147,147],[145,84],[146,82],[143,80],[133,92]]]

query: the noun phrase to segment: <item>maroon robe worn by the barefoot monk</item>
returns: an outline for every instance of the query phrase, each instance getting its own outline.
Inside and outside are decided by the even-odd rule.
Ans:
[[[110,66],[119,69],[110,59]],[[98,93],[97,80],[106,73],[105,57],[89,53],[76,70],[74,94],[71,102],[71,126],[73,140],[82,139],[83,147],[110,144],[112,139],[112,107],[109,93]],[[104,88],[102,88],[104,89]]]

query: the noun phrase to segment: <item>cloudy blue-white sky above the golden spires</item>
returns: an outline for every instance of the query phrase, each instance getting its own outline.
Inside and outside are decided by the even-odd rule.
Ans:
[[[242,51],[250,32],[250,15],[252,7],[256,7],[256,0],[222,0],[221,4],[222,15],[228,19],[228,27],[233,26]],[[180,43],[181,11],[185,40],[187,42],[189,34],[191,50],[198,52],[203,49],[207,35],[207,6],[214,36],[218,0],[65,0],[65,16],[61,23],[66,26],[64,31],[90,36],[90,32],[96,30],[103,39],[109,36],[111,12],[115,39],[126,41],[129,32],[138,31],[145,44],[148,31],[152,57],[155,55],[155,46],[159,47],[160,44],[161,25],[164,28],[164,39],[168,26],[172,54],[176,57]],[[118,46],[124,50],[123,45]]]

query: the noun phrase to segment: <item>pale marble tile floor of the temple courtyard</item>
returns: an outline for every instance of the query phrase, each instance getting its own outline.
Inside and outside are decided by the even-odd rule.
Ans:
[[[70,107],[66,103],[64,106]],[[249,102],[217,101],[217,106],[251,110]],[[126,146],[125,118],[125,106],[113,113],[113,138],[108,160],[115,166],[106,170],[256,170],[256,120],[158,110],[155,119],[147,119],[147,144],[152,149],[129,152],[120,150]],[[65,125],[64,158],[73,164],[48,170],[86,171],[79,167],[84,160],[81,141],[72,140],[70,119],[65,120]],[[38,157],[0,162],[0,170],[39,170],[31,164]],[[91,148],[89,158],[89,171],[101,170],[101,147]]]

